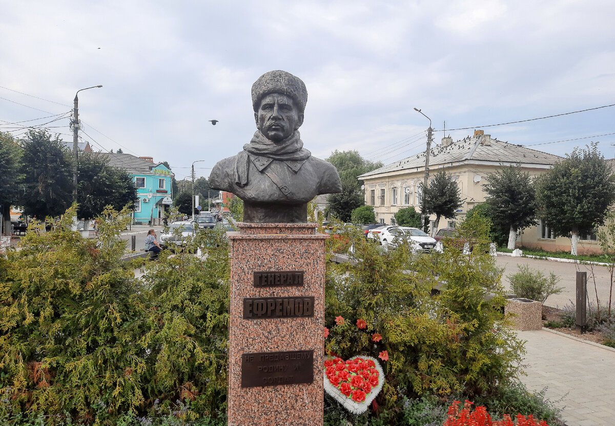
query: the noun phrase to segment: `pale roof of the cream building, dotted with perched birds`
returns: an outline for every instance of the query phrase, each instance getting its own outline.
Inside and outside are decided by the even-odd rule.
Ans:
[[[526,148],[523,145],[491,139],[491,135],[482,134],[482,131],[476,131],[474,136],[465,137],[461,141],[453,142],[451,137],[444,137],[442,141],[442,144],[432,147],[429,152],[430,167],[437,165],[453,166],[476,161],[493,162],[494,164],[552,165],[555,161],[562,159],[557,155]],[[362,174],[359,179],[387,172],[424,167],[425,153],[421,152]]]

